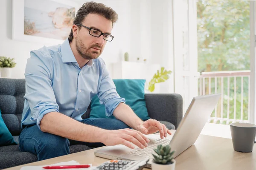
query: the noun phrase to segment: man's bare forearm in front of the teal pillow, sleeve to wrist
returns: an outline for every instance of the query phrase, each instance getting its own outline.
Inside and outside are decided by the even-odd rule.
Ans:
[[[120,103],[113,111],[113,116],[116,119],[122,120],[126,125],[137,130],[137,127],[143,123],[143,121],[132,111],[132,109],[124,104]]]

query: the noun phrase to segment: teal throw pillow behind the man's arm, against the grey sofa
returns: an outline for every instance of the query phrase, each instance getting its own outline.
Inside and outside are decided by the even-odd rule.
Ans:
[[[113,82],[119,96],[125,99],[126,105],[129,105],[140,119],[148,120],[149,116],[144,96],[145,79],[113,79]],[[115,119],[114,116],[106,116],[105,106],[99,103],[97,95],[91,101],[90,118]]]

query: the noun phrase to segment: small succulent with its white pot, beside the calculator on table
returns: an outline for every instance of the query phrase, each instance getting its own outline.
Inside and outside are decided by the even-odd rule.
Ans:
[[[172,157],[175,151],[171,152],[169,145],[163,146],[159,144],[154,151],[157,155],[152,153],[154,156],[151,164],[152,170],[175,170],[176,161]]]

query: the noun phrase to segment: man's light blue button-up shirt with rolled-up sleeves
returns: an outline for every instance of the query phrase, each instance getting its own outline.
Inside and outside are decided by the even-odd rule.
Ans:
[[[96,94],[110,116],[120,102],[101,58],[79,68],[68,40],[63,44],[31,51],[27,60],[26,94],[21,126],[38,125],[49,112],[59,112],[81,121]]]

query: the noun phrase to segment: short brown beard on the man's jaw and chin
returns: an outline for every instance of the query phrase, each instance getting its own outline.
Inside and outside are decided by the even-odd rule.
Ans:
[[[100,51],[91,51],[91,48],[98,48]],[[96,59],[102,53],[102,46],[91,45],[86,47],[79,37],[76,38],[76,50],[84,59]]]

